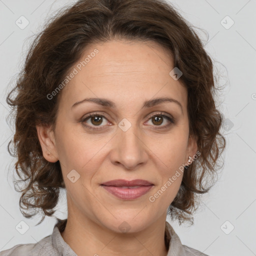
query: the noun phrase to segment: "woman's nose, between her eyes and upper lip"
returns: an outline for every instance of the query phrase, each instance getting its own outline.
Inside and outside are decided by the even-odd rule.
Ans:
[[[136,169],[145,164],[148,160],[148,148],[136,125],[131,125],[127,130],[118,127],[116,132],[112,139],[111,162],[123,165],[126,169]]]

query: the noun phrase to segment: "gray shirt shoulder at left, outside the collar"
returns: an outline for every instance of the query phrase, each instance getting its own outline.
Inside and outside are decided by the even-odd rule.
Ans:
[[[39,255],[57,255],[52,246],[51,235],[45,236],[36,243],[17,244],[9,249],[0,251],[0,256],[39,256]]]

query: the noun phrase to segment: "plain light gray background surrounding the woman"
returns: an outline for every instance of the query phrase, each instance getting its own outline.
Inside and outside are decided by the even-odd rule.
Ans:
[[[55,220],[46,217],[34,226],[39,217],[26,219],[18,207],[20,194],[12,184],[14,159],[7,152],[12,131],[5,117],[8,106],[7,91],[13,85],[11,78],[23,63],[31,36],[40,30],[45,18],[71,0],[0,0],[0,251],[19,243],[35,243],[52,232]],[[209,39],[204,38],[205,48],[221,75],[220,85],[225,89],[219,98],[219,109],[229,119],[222,131],[227,140],[222,174],[215,187],[203,196],[203,203],[194,218],[194,225],[179,226],[171,222],[183,244],[211,256],[256,255],[256,41],[255,0],[176,0],[171,1],[181,15],[196,27],[203,28]],[[29,24],[20,29],[15,21],[25,16]],[[234,24],[226,29],[220,23],[228,15]],[[230,20],[224,19],[225,25]],[[221,65],[223,64],[223,65]],[[254,93],[254,94],[253,94]],[[10,174],[7,176],[8,169]],[[56,212],[66,217],[65,194]],[[21,221],[29,226],[20,234],[15,226]],[[227,224],[225,221],[229,221]],[[234,229],[229,233],[231,225]],[[224,231],[223,231],[224,230]]]

